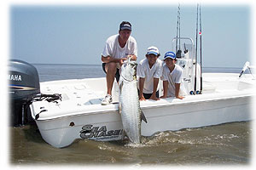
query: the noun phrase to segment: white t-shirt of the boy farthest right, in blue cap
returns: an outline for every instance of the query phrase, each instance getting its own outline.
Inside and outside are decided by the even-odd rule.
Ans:
[[[175,83],[182,82],[183,70],[179,65],[175,65],[171,72],[167,65],[163,65],[162,81],[168,81],[167,97],[175,97]]]

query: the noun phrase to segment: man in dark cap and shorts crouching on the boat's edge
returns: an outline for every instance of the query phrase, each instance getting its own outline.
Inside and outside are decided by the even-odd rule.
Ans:
[[[119,82],[119,68],[129,57],[137,60],[137,42],[131,37],[131,23],[123,21],[119,25],[119,34],[108,37],[102,52],[102,69],[106,72],[107,80],[107,95],[102,100],[102,105],[112,102],[114,77]]]

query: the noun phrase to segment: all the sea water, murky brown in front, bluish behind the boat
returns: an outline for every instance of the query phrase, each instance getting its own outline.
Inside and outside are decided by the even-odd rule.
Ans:
[[[105,77],[102,65],[35,65],[40,82]],[[241,68],[204,68],[205,72],[240,72]],[[44,142],[35,125],[10,127],[12,165],[250,165],[252,122],[188,128],[128,141],[78,140],[55,149]]]

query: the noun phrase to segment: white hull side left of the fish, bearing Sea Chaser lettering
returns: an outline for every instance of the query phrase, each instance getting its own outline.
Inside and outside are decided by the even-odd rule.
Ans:
[[[107,117],[106,122],[97,120]],[[108,122],[108,119],[112,119]],[[56,148],[66,147],[75,139],[111,141],[122,139],[123,127],[117,112],[93,116],[67,116],[49,121],[36,121],[42,138]]]

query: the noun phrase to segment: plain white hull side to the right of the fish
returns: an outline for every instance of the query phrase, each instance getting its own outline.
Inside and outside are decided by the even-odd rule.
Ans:
[[[142,134],[150,136],[154,132],[166,130],[176,131],[188,127],[249,121],[251,120],[250,107],[251,97],[241,97],[143,109],[148,123],[143,124]]]

